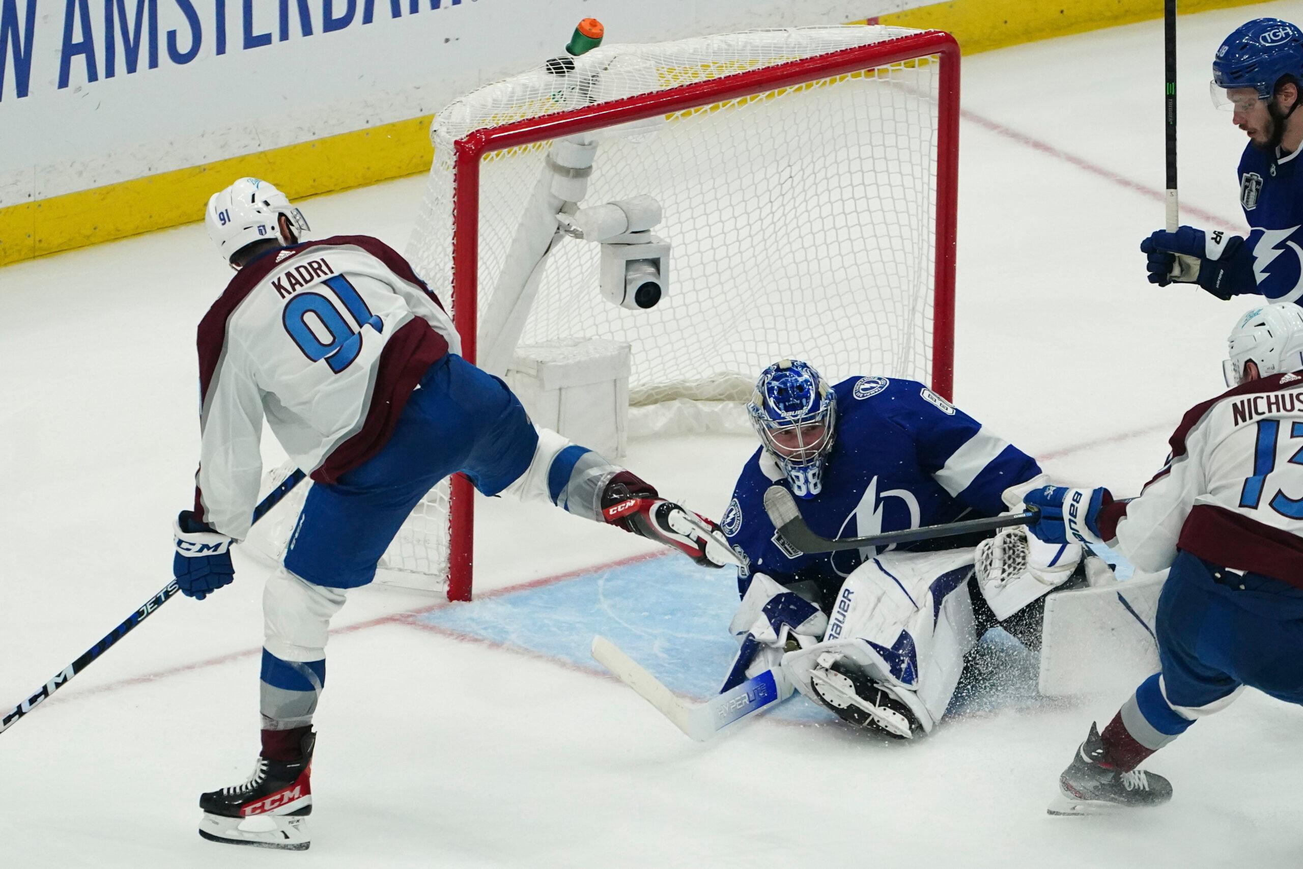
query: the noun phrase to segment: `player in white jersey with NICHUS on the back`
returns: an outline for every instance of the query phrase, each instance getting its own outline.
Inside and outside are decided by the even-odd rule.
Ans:
[[[1170,568],[1154,633],[1161,672],[1102,732],[1091,724],[1059,776],[1050,814],[1171,799],[1136,769],[1246,685],[1303,704],[1303,309],[1255,307],[1230,334],[1222,395],[1195,405],[1139,498],[1046,486],[1044,541],[1108,541],[1138,568]]]

